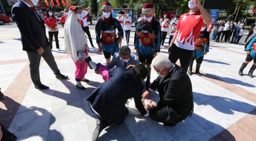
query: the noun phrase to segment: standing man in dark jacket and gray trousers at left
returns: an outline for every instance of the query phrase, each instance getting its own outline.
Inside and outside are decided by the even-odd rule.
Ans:
[[[33,5],[37,5],[37,2],[38,0],[19,0],[13,5],[11,13],[20,31],[22,50],[28,54],[32,82],[36,89],[49,89],[40,81],[41,57],[45,59],[56,78],[67,79],[68,76],[59,72],[45,34],[45,25],[33,8]]]

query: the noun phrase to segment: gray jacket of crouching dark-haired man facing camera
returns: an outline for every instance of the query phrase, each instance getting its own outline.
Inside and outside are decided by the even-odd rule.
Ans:
[[[116,52],[114,55],[113,55],[113,58],[112,58],[112,60],[111,60],[111,62],[106,66],[108,69],[112,69],[113,67],[120,67],[121,65],[123,65],[122,64],[122,59],[121,59],[121,57],[120,57],[120,55],[119,55],[119,53],[118,52]],[[139,65],[140,63],[139,63],[139,58],[135,55],[135,54],[133,54],[133,53],[131,53],[131,56],[130,56],[130,58],[129,58],[129,60],[128,60],[128,62],[127,62],[127,66],[128,65]]]

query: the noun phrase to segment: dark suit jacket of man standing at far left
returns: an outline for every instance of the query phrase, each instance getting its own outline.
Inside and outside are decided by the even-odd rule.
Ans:
[[[35,12],[36,13],[36,12]],[[11,14],[19,28],[23,51],[36,51],[40,47],[46,49],[49,42],[45,33],[45,25],[24,2],[13,5]]]

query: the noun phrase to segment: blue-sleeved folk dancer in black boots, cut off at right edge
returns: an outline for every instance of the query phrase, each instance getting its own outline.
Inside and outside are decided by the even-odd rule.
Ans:
[[[249,42],[247,42],[247,44],[245,45],[245,51],[250,51],[250,54],[248,54],[245,58],[245,61],[252,61],[253,60],[253,64],[252,67],[250,68],[250,71],[248,73],[248,75],[250,76],[250,78],[254,78],[254,76],[252,75],[252,73],[255,71],[256,69],[256,36],[252,37],[250,39]],[[239,75],[243,76],[243,69],[245,69],[245,67],[248,65],[248,63],[243,63],[239,69]]]

